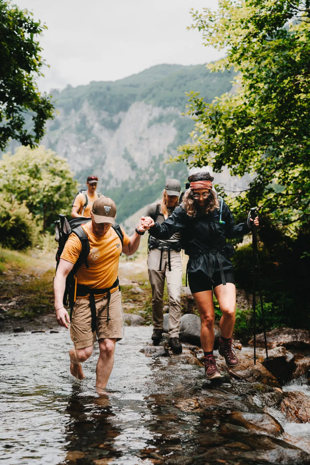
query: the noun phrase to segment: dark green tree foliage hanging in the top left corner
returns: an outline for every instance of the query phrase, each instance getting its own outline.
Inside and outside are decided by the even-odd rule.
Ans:
[[[51,96],[41,95],[35,82],[44,64],[35,36],[44,29],[32,13],[0,1],[0,150],[10,139],[37,146],[53,118]]]

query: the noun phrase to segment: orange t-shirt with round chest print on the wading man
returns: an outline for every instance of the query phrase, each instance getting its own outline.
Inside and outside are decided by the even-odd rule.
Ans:
[[[91,233],[89,230],[90,225],[91,222],[82,226],[89,239],[90,252],[87,258],[89,268],[86,268],[83,263],[78,268],[76,277],[79,284],[93,289],[105,289],[111,287],[117,279],[122,243],[112,226],[103,237],[98,237]],[[130,239],[123,230],[122,233],[124,235],[124,246],[126,246],[129,244]],[[82,245],[78,236],[72,233],[66,241],[60,258],[70,263],[76,263],[81,250]],[[111,292],[116,291],[117,288],[115,287]]]

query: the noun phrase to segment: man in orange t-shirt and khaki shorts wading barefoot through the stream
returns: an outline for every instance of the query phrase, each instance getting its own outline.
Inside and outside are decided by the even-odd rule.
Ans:
[[[70,371],[78,379],[85,378],[81,362],[91,354],[95,341],[99,343],[96,368],[96,387],[106,387],[114,363],[115,343],[122,339],[122,305],[118,283],[119,255],[137,251],[140,236],[148,229],[142,217],[131,237],[122,230],[123,247],[119,235],[111,227],[115,224],[116,206],[109,197],[95,200],[90,212],[92,221],[82,226],[89,240],[90,252],[86,265],[76,273],[77,292],[70,326],[74,347],[70,350]],[[142,226],[144,221],[144,226]],[[63,306],[66,277],[79,258],[82,245],[72,233],[66,241],[54,279],[55,312],[59,326],[68,328],[70,317]],[[93,320],[94,318],[94,320]],[[94,326],[93,326],[94,323]]]

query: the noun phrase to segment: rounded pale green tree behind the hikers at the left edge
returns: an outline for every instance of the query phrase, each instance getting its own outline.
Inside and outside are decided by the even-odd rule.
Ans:
[[[44,146],[20,147],[0,161],[0,191],[9,202],[25,202],[46,231],[58,213],[69,213],[77,181],[65,159]]]

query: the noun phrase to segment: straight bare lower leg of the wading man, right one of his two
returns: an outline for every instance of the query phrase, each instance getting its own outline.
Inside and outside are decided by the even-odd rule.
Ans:
[[[112,372],[116,339],[100,338],[98,343],[100,353],[96,367],[96,388],[100,392],[106,387]]]

